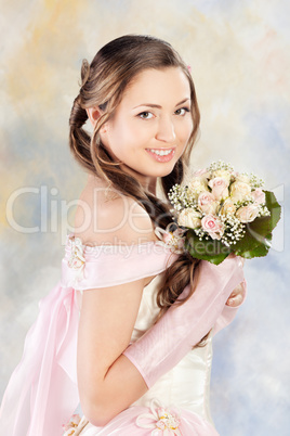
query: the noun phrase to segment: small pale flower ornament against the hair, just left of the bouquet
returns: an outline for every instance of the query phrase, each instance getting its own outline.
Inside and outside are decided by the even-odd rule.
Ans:
[[[155,234],[160,241],[157,242],[158,245],[162,245],[170,248],[171,252],[176,254],[182,254],[184,252],[184,243],[187,229],[182,229],[174,222],[170,222],[166,230],[161,227],[156,227]]]

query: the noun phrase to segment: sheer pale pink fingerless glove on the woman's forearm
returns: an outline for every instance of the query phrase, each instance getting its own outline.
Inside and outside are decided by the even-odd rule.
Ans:
[[[233,290],[243,282],[242,261],[228,257],[219,266],[201,261],[195,273],[195,292],[175,304],[123,355],[150,388],[214,326]],[[181,298],[189,292],[186,286]]]

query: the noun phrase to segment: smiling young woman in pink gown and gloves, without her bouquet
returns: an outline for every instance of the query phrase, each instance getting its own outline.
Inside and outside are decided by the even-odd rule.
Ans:
[[[167,192],[182,182],[198,132],[192,76],[169,43],[134,35],[103,47],[81,76],[70,148],[88,184],[0,434],[61,435],[80,400],[83,418],[66,435],[216,435],[211,338],[243,298],[240,260],[197,264],[179,241],[159,245],[156,231],[172,222]]]

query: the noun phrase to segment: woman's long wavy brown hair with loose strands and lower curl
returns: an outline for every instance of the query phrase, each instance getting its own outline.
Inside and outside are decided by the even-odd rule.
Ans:
[[[164,201],[159,200],[131,175],[124,172],[120,162],[114,161],[103,145],[100,129],[113,116],[121,102],[124,90],[137,74],[147,68],[166,69],[179,67],[187,77],[190,87],[193,131],[186,150],[176,162],[173,170],[161,178]],[[88,119],[87,108],[98,106],[103,115],[97,119],[92,134],[83,129]],[[154,226],[166,228],[172,222],[168,192],[175,183],[184,179],[189,163],[190,152],[199,131],[200,114],[196,91],[187,65],[170,43],[143,35],[126,35],[104,46],[91,64],[87,60],[81,67],[81,88],[75,99],[69,118],[69,145],[79,164],[93,175],[102,178],[121,194],[132,197],[148,213]],[[187,284],[192,284],[197,260],[186,252],[167,268],[163,281],[157,294],[157,304],[161,316],[180,296]],[[179,304],[186,299],[179,299]]]

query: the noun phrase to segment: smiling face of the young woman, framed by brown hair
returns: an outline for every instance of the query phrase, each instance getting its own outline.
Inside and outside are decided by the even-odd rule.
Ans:
[[[128,87],[115,116],[101,130],[123,170],[146,188],[169,175],[193,130],[190,87],[179,67],[145,69]]]

